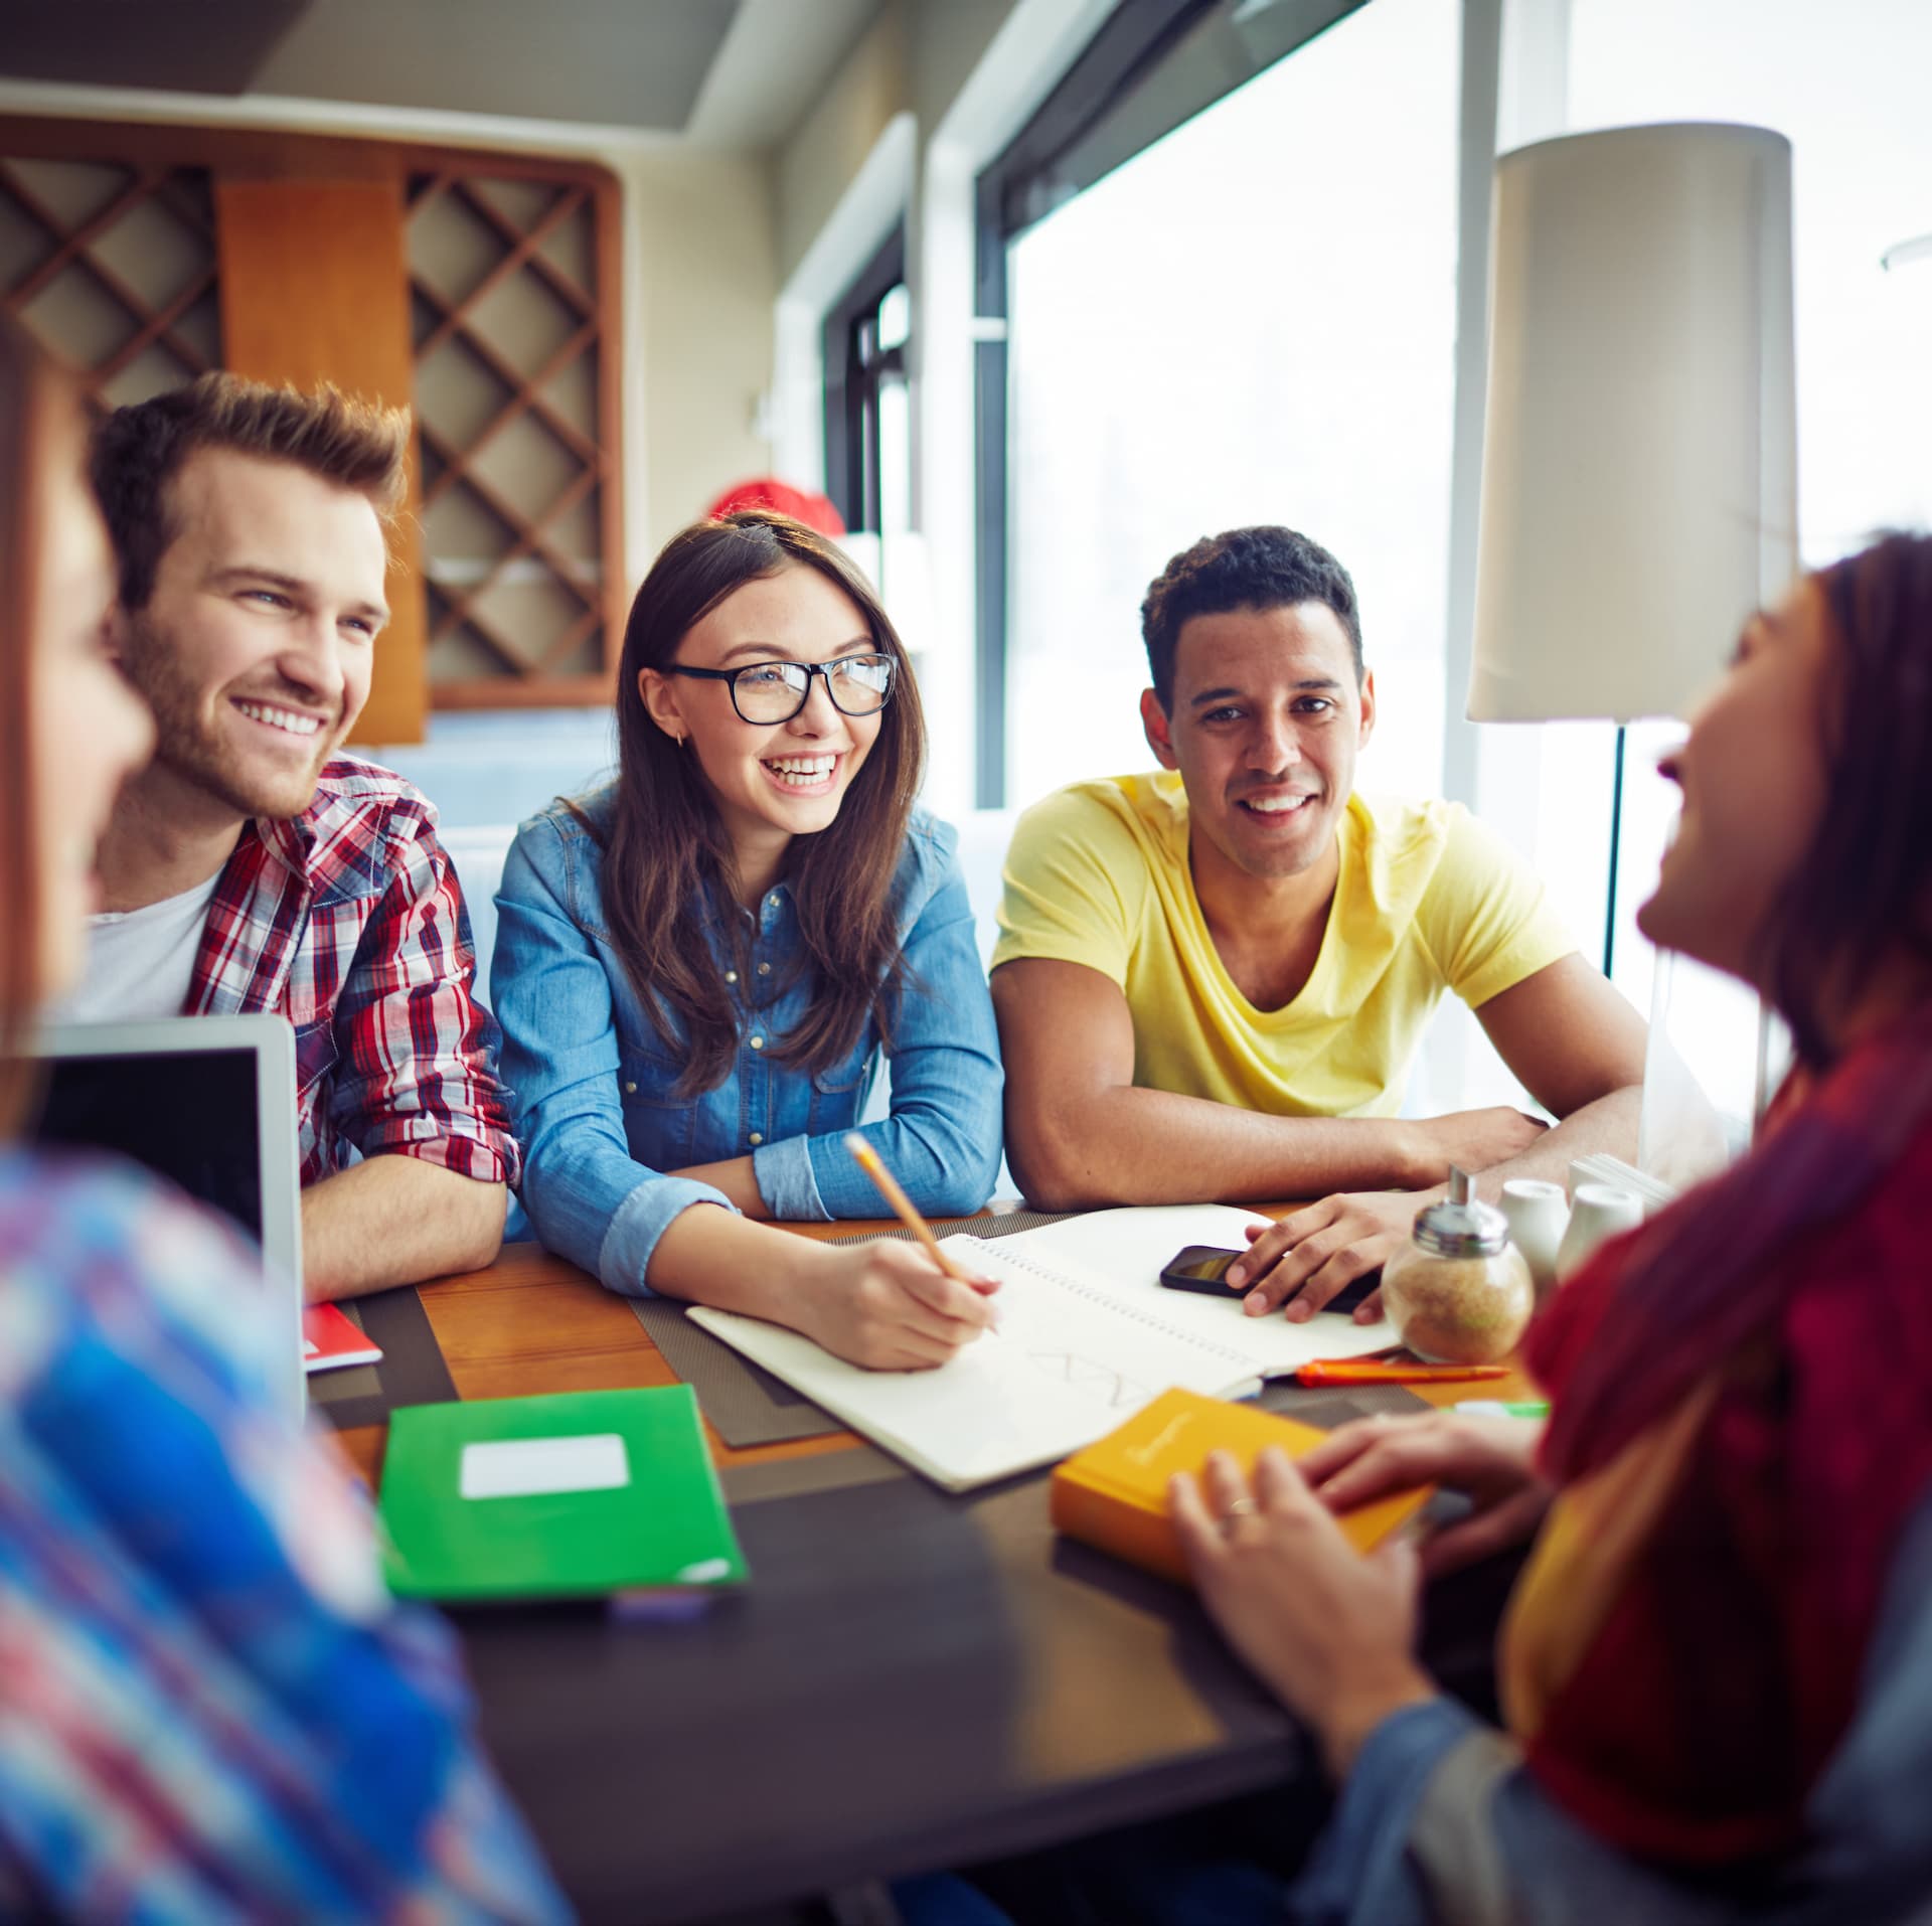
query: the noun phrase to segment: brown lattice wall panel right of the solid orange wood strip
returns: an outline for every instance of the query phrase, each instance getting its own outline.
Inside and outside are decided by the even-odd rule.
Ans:
[[[431,699],[601,699],[614,367],[589,182],[410,182]]]

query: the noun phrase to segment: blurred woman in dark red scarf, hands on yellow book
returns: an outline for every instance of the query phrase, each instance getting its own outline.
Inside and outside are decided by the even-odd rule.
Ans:
[[[1177,1480],[1208,1609],[1341,1787],[1296,1920],[1932,1912],[1932,539],[1754,616],[1665,775],[1638,921],[1797,1041],[1758,1146],[1538,1319],[1540,1437],[1383,1420]],[[1474,1501],[1424,1571],[1536,1538],[1503,1733],[1412,1657],[1416,1555],[1335,1524],[1418,1478]]]

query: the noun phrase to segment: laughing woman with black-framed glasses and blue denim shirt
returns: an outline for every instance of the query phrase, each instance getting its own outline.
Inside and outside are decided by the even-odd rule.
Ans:
[[[524,1207],[628,1296],[792,1325],[879,1370],[943,1364],[981,1292],[912,1244],[759,1219],[879,1215],[864,1136],[923,1211],[999,1173],[999,1045],[952,831],[914,809],[925,722],[877,597],[746,510],[657,558],[618,666],[618,775],[522,827],[497,1016]],[[991,1287],[987,1287],[991,1289]]]

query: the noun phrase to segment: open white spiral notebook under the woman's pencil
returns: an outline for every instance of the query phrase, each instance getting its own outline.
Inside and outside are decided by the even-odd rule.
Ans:
[[[694,1306],[692,1317],[933,1484],[968,1491],[1090,1445],[1171,1385],[1252,1397],[1264,1377],[1397,1341],[1385,1321],[1248,1317],[1233,1294],[1161,1289],[1182,1246],[1240,1250],[1244,1227],[1262,1221],[1186,1204],[1092,1211],[997,1240],[949,1236],[945,1250],[1001,1281],[1001,1329],[933,1372],[867,1372],[736,1312]]]

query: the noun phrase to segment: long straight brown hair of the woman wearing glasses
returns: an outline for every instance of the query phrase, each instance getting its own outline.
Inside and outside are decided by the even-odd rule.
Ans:
[[[895,674],[879,738],[837,819],[794,836],[786,852],[813,997],[804,1022],[769,1055],[806,1072],[831,1068],[850,1055],[867,1018],[889,1030],[902,981],[893,877],[925,761],[925,719],[906,651],[866,578],[802,522],[771,510],[699,522],[670,539],[630,609],[616,688],[618,790],[603,860],[605,925],[661,1041],[684,1057],[684,1095],[721,1084],[738,1049],[738,1012],[707,941],[719,906],[728,947],[740,949],[744,935],[728,916],[730,836],[697,757],[643,707],[638,672],[667,668],[678,643],[732,589],[784,568],[813,568],[842,589],[873,645],[893,657]]]

